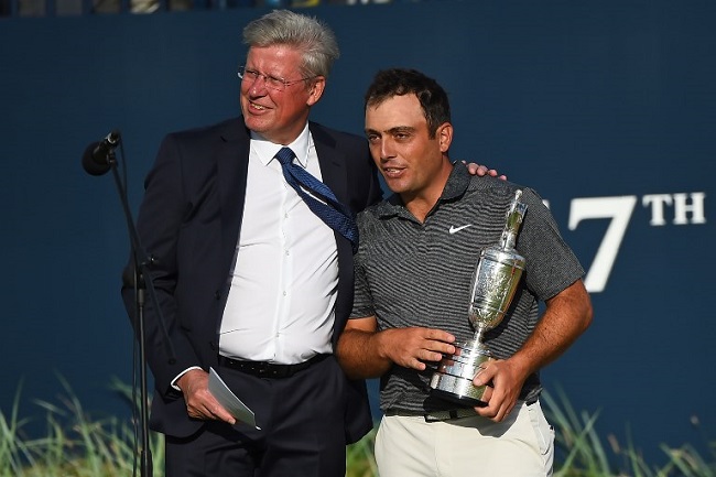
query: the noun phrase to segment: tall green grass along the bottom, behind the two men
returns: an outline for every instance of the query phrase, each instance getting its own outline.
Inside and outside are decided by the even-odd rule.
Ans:
[[[113,416],[93,418],[61,379],[66,397],[58,402],[35,401],[44,412],[46,432],[31,437],[25,432],[34,421],[19,415],[21,387],[9,414],[0,412],[0,477],[129,477],[139,475],[134,458],[134,427]],[[132,403],[130,387],[113,380],[110,387]],[[555,477],[716,477],[716,442],[707,443],[708,455],[692,444],[661,451],[666,464],[650,465],[627,438],[620,445],[612,435],[601,438],[595,431],[599,412],[577,412],[563,393],[558,400],[543,394],[545,412],[557,432],[561,457]],[[376,477],[375,432],[348,446],[347,477]],[[152,433],[153,475],[163,477],[163,437]],[[616,463],[616,464],[615,464]],[[135,473],[135,474],[134,474]]]

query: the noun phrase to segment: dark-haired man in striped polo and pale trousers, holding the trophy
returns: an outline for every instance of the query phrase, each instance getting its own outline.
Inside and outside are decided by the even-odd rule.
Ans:
[[[434,365],[474,335],[467,310],[479,252],[498,242],[522,187],[451,162],[447,95],[419,72],[376,76],[366,134],[394,195],[358,216],[354,308],[337,356],[348,376],[381,378],[381,477],[551,475],[554,433],[540,408],[539,370],[592,321],[579,262],[541,198],[523,188],[517,250],[527,269],[509,313],[487,333],[498,359],[474,379],[489,383],[487,404],[458,410],[433,398]]]

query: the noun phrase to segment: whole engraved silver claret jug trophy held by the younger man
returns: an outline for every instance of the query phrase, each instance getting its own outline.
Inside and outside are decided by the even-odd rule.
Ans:
[[[480,252],[471,281],[468,317],[475,328],[473,339],[455,344],[455,354],[444,356],[431,379],[432,393],[442,399],[469,405],[485,405],[485,386],[473,386],[473,378],[492,359],[482,336],[500,324],[524,270],[524,258],[514,250],[527,204],[520,202],[522,191],[507,212],[507,223],[499,243]]]

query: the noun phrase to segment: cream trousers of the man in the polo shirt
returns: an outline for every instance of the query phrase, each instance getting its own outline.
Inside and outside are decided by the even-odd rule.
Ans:
[[[386,415],[376,435],[380,477],[545,477],[553,460],[554,430],[539,401],[518,402],[500,423]]]

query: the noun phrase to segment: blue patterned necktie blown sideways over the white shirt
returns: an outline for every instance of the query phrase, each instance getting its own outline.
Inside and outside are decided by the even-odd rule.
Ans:
[[[296,155],[289,148],[281,148],[275,155],[281,163],[283,176],[286,182],[299,193],[308,208],[318,216],[321,220],[325,221],[328,227],[337,230],[340,235],[350,240],[350,243],[352,243],[352,250],[356,252],[358,249],[358,227],[352,218],[352,214],[348,207],[338,202],[326,184],[318,181],[300,165],[294,164],[293,158]],[[306,191],[310,191],[311,194],[324,199],[326,204],[316,200],[314,197],[306,194],[301,186],[305,187]]]

